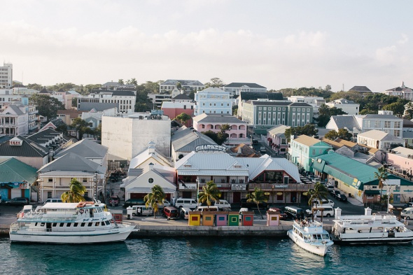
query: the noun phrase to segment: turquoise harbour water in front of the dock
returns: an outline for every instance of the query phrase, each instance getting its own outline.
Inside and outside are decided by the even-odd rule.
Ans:
[[[332,246],[325,258],[289,239],[152,238],[99,245],[10,244],[0,274],[412,274],[413,246]]]

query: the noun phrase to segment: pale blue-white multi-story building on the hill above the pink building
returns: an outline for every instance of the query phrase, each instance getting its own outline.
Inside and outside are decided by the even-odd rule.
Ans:
[[[202,113],[228,113],[232,114],[232,100],[230,93],[216,87],[209,87],[195,94],[197,106],[195,115]]]

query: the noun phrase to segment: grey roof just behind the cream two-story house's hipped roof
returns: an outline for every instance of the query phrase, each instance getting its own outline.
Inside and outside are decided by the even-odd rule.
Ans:
[[[61,150],[56,154],[56,157],[62,157],[62,155],[67,153],[75,153],[76,155],[87,158],[103,158],[106,153],[108,153],[108,148],[89,139],[82,139],[68,148]]]

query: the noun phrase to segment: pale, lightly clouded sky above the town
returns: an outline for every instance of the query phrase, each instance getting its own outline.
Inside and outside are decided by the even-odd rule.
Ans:
[[[42,85],[221,78],[413,87],[413,1],[1,1],[0,65]],[[3,60],[1,60],[3,59]]]

